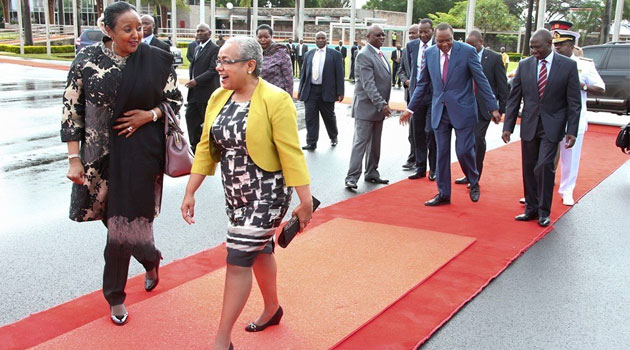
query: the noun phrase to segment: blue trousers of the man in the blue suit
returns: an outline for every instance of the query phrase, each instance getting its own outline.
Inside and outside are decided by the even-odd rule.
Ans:
[[[446,106],[442,112],[442,119],[435,129],[437,143],[437,185],[442,197],[451,197],[451,133],[454,129]],[[457,160],[468,178],[471,186],[479,181],[479,172],[475,163],[475,127],[470,126],[455,129],[455,153]]]

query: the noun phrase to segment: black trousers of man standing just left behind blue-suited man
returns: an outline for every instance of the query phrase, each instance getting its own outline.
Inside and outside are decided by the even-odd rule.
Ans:
[[[431,127],[431,104],[421,105],[411,117],[412,138],[414,159],[418,171],[427,170],[427,157],[429,159],[429,169],[436,170],[437,144],[435,134]],[[409,161],[409,157],[407,158]]]

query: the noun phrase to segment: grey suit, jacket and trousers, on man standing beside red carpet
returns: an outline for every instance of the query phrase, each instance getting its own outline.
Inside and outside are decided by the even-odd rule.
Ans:
[[[379,178],[378,161],[381,156],[381,133],[383,131],[383,107],[389,103],[391,93],[391,68],[379,57],[378,52],[366,45],[354,63],[354,140],[350,169],[346,181],[357,181],[361,176],[361,163],[365,160],[365,178]]]

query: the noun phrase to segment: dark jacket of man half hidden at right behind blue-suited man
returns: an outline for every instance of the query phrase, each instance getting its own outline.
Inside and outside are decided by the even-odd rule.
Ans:
[[[499,113],[505,113],[505,102],[509,94],[507,86],[507,76],[505,74],[505,66],[501,55],[485,48],[481,54],[481,68],[483,74],[488,78],[490,88],[494,93],[494,97],[499,101]],[[485,120],[492,119],[491,111],[486,108],[482,98],[477,98],[477,106],[479,107],[479,118]]]

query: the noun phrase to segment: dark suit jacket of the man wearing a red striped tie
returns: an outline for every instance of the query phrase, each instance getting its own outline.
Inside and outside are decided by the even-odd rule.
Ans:
[[[547,85],[539,98],[536,57],[530,56],[519,62],[507,100],[503,131],[514,132],[521,101],[521,139],[531,141],[536,137],[539,119],[545,137],[551,142],[562,141],[565,130],[567,134],[577,136],[582,109],[577,63],[554,53]]]

